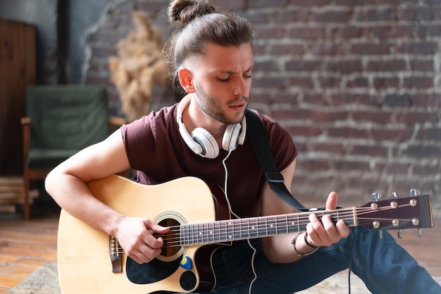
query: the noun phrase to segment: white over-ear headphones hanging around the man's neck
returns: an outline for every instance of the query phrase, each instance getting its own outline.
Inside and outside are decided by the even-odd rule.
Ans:
[[[201,157],[214,159],[219,155],[219,147],[216,139],[204,128],[195,128],[192,135],[187,132],[184,123],[182,123],[182,112],[190,104],[190,97],[182,98],[178,104],[176,121],[179,125],[179,133],[190,149]],[[242,130],[242,131],[241,131]],[[230,152],[237,148],[237,145],[243,145],[247,130],[247,121],[244,118],[242,123],[228,125],[222,137],[222,149]]]

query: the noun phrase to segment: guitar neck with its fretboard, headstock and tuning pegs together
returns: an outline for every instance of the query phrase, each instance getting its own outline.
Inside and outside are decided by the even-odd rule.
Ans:
[[[180,245],[207,245],[299,233],[306,231],[309,214],[316,214],[318,219],[330,215],[334,223],[341,219],[347,226],[364,226],[374,229],[433,227],[430,195],[419,195],[372,202],[363,207],[182,224],[179,226]]]

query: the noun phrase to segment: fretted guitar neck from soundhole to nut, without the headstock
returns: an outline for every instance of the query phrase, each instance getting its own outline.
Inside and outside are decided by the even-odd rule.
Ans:
[[[309,214],[316,214],[320,219],[326,214],[330,214],[331,219],[335,222],[342,219],[347,226],[357,225],[355,208],[190,223],[180,226],[180,245],[208,245],[298,233],[306,231]]]

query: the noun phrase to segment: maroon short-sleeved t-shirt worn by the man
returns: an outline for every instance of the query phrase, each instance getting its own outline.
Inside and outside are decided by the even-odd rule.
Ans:
[[[196,176],[206,183],[224,186],[223,159],[228,152],[221,149],[216,159],[194,154],[178,129],[177,105],[164,107],[137,121],[123,125],[121,133],[130,166],[137,170],[137,180],[144,184],[164,183],[183,176]],[[297,156],[292,137],[273,119],[259,114],[270,141],[273,157],[282,171]],[[258,216],[259,197],[266,183],[248,135],[225,161],[228,169],[228,198],[232,211],[240,217]]]

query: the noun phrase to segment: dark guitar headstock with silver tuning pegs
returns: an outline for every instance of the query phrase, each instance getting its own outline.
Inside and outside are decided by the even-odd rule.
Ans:
[[[411,197],[399,198],[397,193],[390,200],[380,200],[381,195],[374,193],[373,202],[356,209],[356,225],[381,230],[401,230],[417,228],[421,236],[421,228],[433,227],[430,195],[419,195],[418,190],[411,190]]]

